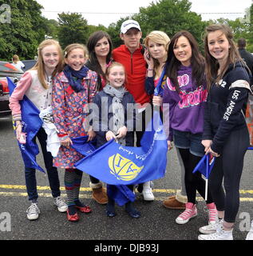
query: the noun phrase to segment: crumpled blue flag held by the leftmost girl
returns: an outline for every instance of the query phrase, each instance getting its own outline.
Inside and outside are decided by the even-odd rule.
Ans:
[[[7,77],[7,80],[11,95],[16,86],[10,78]],[[39,153],[39,150],[34,137],[42,127],[42,119],[39,117],[39,110],[34,106],[34,103],[26,97],[26,95],[22,101],[20,101],[20,106],[22,111],[22,131],[26,133],[26,144],[18,142],[18,146],[22,154],[24,164],[28,168],[38,169],[45,173],[42,167],[36,162],[36,155]]]

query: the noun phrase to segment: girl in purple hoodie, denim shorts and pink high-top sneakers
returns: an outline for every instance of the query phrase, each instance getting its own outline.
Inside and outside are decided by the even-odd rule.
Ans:
[[[204,102],[207,89],[204,77],[204,58],[196,39],[188,31],[174,35],[168,47],[167,83],[164,86],[164,129],[168,135],[168,149],[174,141],[185,169],[186,209],[176,223],[187,223],[196,217],[196,191],[204,198],[205,182],[200,173],[192,174],[204,156],[201,144],[204,128]],[[166,103],[166,104],[165,104]],[[208,192],[209,222],[215,222],[217,211]]]

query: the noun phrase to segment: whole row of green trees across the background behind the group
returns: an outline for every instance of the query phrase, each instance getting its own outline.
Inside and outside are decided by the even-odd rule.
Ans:
[[[10,6],[10,22],[2,22],[3,8],[0,9],[0,59],[10,61],[14,54],[22,59],[34,58],[37,47],[45,38],[55,38],[62,48],[73,42],[86,43],[89,35],[105,30],[112,38],[113,46],[120,46],[121,23],[133,18],[140,23],[143,38],[152,30],[162,30],[170,38],[180,30],[190,31],[203,50],[204,28],[214,22],[226,23],[234,31],[235,40],[246,38],[247,50],[253,52],[253,4],[246,10],[246,18],[235,21],[219,18],[202,21],[201,16],[191,11],[189,0],[158,0],[148,7],[140,7],[139,13],[120,18],[108,28],[103,25],[91,26],[77,13],[58,14],[57,21],[42,16],[43,7],[35,0],[0,0],[0,7]]]

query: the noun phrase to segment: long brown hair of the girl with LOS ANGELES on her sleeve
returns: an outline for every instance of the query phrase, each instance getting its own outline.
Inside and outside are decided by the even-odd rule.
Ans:
[[[224,34],[227,38],[227,41],[229,45],[231,46],[229,48],[227,62],[223,66],[223,69],[219,70],[219,62],[211,56],[209,50],[208,50],[208,34],[211,32],[215,32],[220,30],[221,34]],[[233,41],[233,32],[231,28],[224,24],[212,24],[210,26],[206,27],[206,32],[204,35],[204,50],[205,50],[205,60],[206,60],[206,76],[207,76],[207,82],[208,82],[208,90],[211,87],[211,83],[216,82],[219,85],[219,80],[223,78],[223,75],[227,71],[227,67],[230,64],[234,64],[235,62],[241,62],[242,66],[245,66],[243,64],[243,59],[240,57],[239,51],[237,50],[237,47],[235,46],[235,42]]]

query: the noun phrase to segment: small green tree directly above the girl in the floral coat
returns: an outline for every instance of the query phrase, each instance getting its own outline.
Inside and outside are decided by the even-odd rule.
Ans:
[[[74,42],[85,44],[89,28],[87,20],[81,14],[58,14],[58,23],[58,39],[62,48]]]

